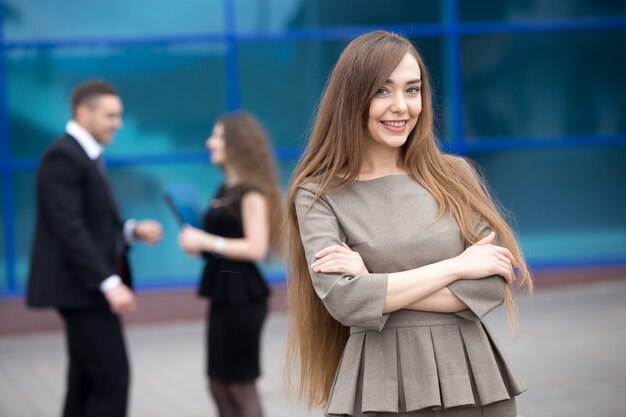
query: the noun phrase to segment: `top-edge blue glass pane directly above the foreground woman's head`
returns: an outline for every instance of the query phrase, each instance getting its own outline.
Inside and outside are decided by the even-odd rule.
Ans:
[[[239,32],[302,28],[439,23],[440,2],[430,0],[235,0]],[[373,12],[375,11],[375,12]]]

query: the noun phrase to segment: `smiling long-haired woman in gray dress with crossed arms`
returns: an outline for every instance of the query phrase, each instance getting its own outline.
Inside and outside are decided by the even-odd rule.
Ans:
[[[409,40],[356,38],[291,180],[287,369],[329,416],[515,417],[526,389],[481,319],[504,302],[514,326],[531,277],[430,94]]]

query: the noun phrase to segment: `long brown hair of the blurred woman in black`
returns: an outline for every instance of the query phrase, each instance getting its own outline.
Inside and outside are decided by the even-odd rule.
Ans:
[[[270,242],[281,251],[283,207],[270,143],[261,123],[252,114],[237,111],[220,118],[224,128],[224,151],[228,165],[236,173],[241,186],[265,196],[268,202]]]

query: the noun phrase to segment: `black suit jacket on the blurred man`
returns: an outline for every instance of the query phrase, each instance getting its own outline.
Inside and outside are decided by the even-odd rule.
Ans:
[[[70,135],[52,143],[37,172],[28,305],[108,307],[99,286],[121,274],[121,259],[127,265],[122,231],[117,205],[97,162]],[[122,277],[130,285],[130,273]]]

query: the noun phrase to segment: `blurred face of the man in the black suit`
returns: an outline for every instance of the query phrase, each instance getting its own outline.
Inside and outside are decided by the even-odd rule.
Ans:
[[[122,101],[115,95],[104,95],[79,107],[76,121],[102,145],[113,141],[122,127]]]

